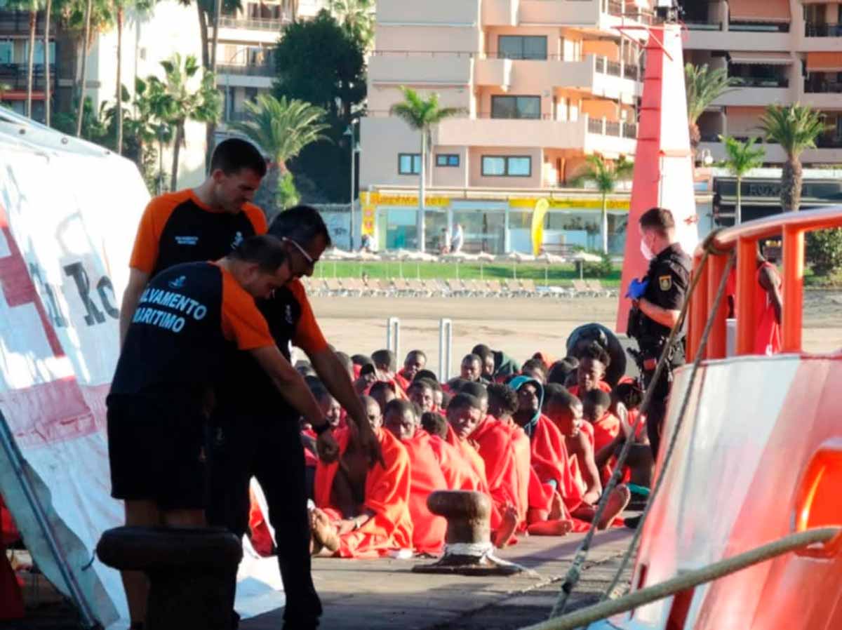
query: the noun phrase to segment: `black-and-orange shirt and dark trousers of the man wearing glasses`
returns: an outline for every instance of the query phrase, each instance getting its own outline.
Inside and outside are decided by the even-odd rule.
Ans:
[[[308,354],[328,349],[298,280],[274,291],[271,299],[258,301],[258,307],[287,360],[290,344]],[[267,518],[274,528],[284,581],[285,627],[316,627],[322,604],[311,573],[301,414],[250,356],[240,353],[235,360],[211,419],[208,521],[242,537],[248,531],[248,484],[257,478],[269,507]]]

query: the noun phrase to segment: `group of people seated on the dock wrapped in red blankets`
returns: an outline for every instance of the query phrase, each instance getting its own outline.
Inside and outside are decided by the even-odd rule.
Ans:
[[[584,531],[594,521],[618,446],[629,439],[646,443],[643,422],[635,427],[641,391],[625,377],[613,388],[605,382],[610,355],[595,341],[563,360],[536,353],[522,367],[477,345],[462,360],[460,377],[446,383],[426,369],[422,350],[410,351],[399,371],[390,350],[337,354],[383,461],[368,465],[349,439],[344,410],[311,366],[299,362],[341,454],[333,463],[320,461],[316,435],[302,422],[313,554],[441,553],[447,523],[427,506],[437,490],[487,494],[496,547],[514,544],[519,535]],[[645,495],[646,477],[646,470],[626,468],[626,483],[611,492],[597,527],[622,524],[618,516],[631,489]],[[249,521],[253,546],[269,555],[272,537],[254,497]]]

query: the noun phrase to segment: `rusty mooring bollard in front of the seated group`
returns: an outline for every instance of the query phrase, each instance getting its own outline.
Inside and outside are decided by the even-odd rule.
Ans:
[[[528,572],[528,569],[494,556],[488,495],[439,490],[429,495],[427,507],[447,520],[445,554],[436,563],[413,567],[413,573],[514,575]]]

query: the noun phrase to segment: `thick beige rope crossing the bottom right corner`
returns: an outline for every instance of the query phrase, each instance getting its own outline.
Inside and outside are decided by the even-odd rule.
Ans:
[[[621,612],[632,611],[653,601],[669,597],[669,595],[675,595],[682,590],[691,589],[697,585],[722,578],[725,575],[736,573],[754,564],[765,562],[771,558],[777,558],[795,549],[809,547],[819,542],[828,542],[831,538],[838,535],[840,531],[842,531],[840,527],[825,527],[823,529],[811,529],[800,531],[797,534],[790,534],[774,542],[769,542],[760,547],[754,547],[754,549],[750,549],[747,552],[738,553],[738,555],[732,556],[731,558],[725,558],[719,562],[708,564],[701,569],[688,571],[659,584],[636,590],[631,595],[626,595],[619,600],[600,601],[599,604],[595,604],[594,606],[571,612],[564,617],[536,623],[534,626],[521,628],[521,630],[574,630],[574,628],[589,625],[590,623],[600,621],[600,619],[606,619]]]

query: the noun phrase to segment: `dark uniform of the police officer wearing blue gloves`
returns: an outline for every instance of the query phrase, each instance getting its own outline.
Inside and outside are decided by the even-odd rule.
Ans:
[[[649,263],[646,278],[649,284],[643,298],[655,306],[670,311],[679,311],[684,306],[687,289],[690,286],[692,262],[678,243],[665,248]],[[629,315],[629,336],[637,339],[642,355],[642,376],[644,387],[652,387],[655,365],[667,342],[670,329],[648,318],[643,312],[632,309]],[[652,445],[653,456],[658,457],[661,427],[666,413],[669,388],[672,385],[672,371],[685,362],[684,339],[679,339],[670,350],[667,370],[654,385],[653,398],[647,414],[647,433]]]

